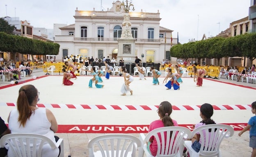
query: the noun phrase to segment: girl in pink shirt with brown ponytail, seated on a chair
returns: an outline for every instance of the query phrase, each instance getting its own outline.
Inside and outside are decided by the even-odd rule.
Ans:
[[[157,113],[158,113],[158,116],[160,117],[160,119],[157,119],[157,120],[151,122],[151,124],[149,125],[149,132],[156,128],[162,128],[165,126],[178,126],[178,123],[176,122],[176,120],[171,119],[171,117],[170,117],[170,115],[172,113],[171,103],[169,103],[167,101],[161,102],[159,105],[159,108],[157,110]],[[161,138],[160,138],[160,142],[162,142]],[[151,152],[151,155],[153,155],[155,157],[156,153],[158,151],[158,145],[157,145],[157,142],[156,142],[156,139],[154,136],[152,136],[149,139],[149,142],[147,142],[147,146],[148,146],[149,151]]]

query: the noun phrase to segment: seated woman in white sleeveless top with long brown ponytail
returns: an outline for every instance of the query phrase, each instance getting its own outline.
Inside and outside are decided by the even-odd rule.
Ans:
[[[33,85],[24,85],[19,90],[17,109],[10,112],[8,117],[11,133],[34,133],[44,135],[55,142],[54,133],[58,129],[53,113],[47,108],[37,108],[39,92]],[[59,149],[52,149],[45,144],[42,157],[57,157]],[[14,152],[9,149],[8,157],[14,157]]]

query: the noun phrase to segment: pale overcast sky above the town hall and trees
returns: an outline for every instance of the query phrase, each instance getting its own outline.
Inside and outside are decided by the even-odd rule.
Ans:
[[[112,7],[114,0],[0,0],[0,17],[19,17],[33,27],[53,29],[53,24],[74,24],[75,9],[96,11]],[[120,0],[122,1],[122,0]],[[160,12],[160,26],[187,43],[216,36],[233,21],[248,16],[251,0],[133,0],[135,12]],[[16,9],[15,9],[16,8]],[[219,23],[219,24],[218,24]]]

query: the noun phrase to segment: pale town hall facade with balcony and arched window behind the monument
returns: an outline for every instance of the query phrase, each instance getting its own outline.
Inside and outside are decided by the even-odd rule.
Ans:
[[[107,11],[79,11],[77,8],[75,24],[60,27],[61,35],[55,35],[55,42],[60,45],[56,61],[61,61],[67,55],[117,58],[118,40],[121,38],[125,13],[120,1],[113,2],[112,5]],[[143,62],[159,63],[163,59],[171,60],[169,50],[172,30],[160,27],[159,11],[129,12],[129,15],[130,31],[135,39],[135,55]],[[172,45],[176,43],[175,38]]]

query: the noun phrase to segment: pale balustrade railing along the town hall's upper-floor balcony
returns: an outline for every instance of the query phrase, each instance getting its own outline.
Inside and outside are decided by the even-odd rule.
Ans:
[[[89,43],[116,43],[119,38],[74,38],[74,42],[89,42]],[[160,39],[138,39],[136,38],[135,43],[152,43],[152,44],[160,44]]]

